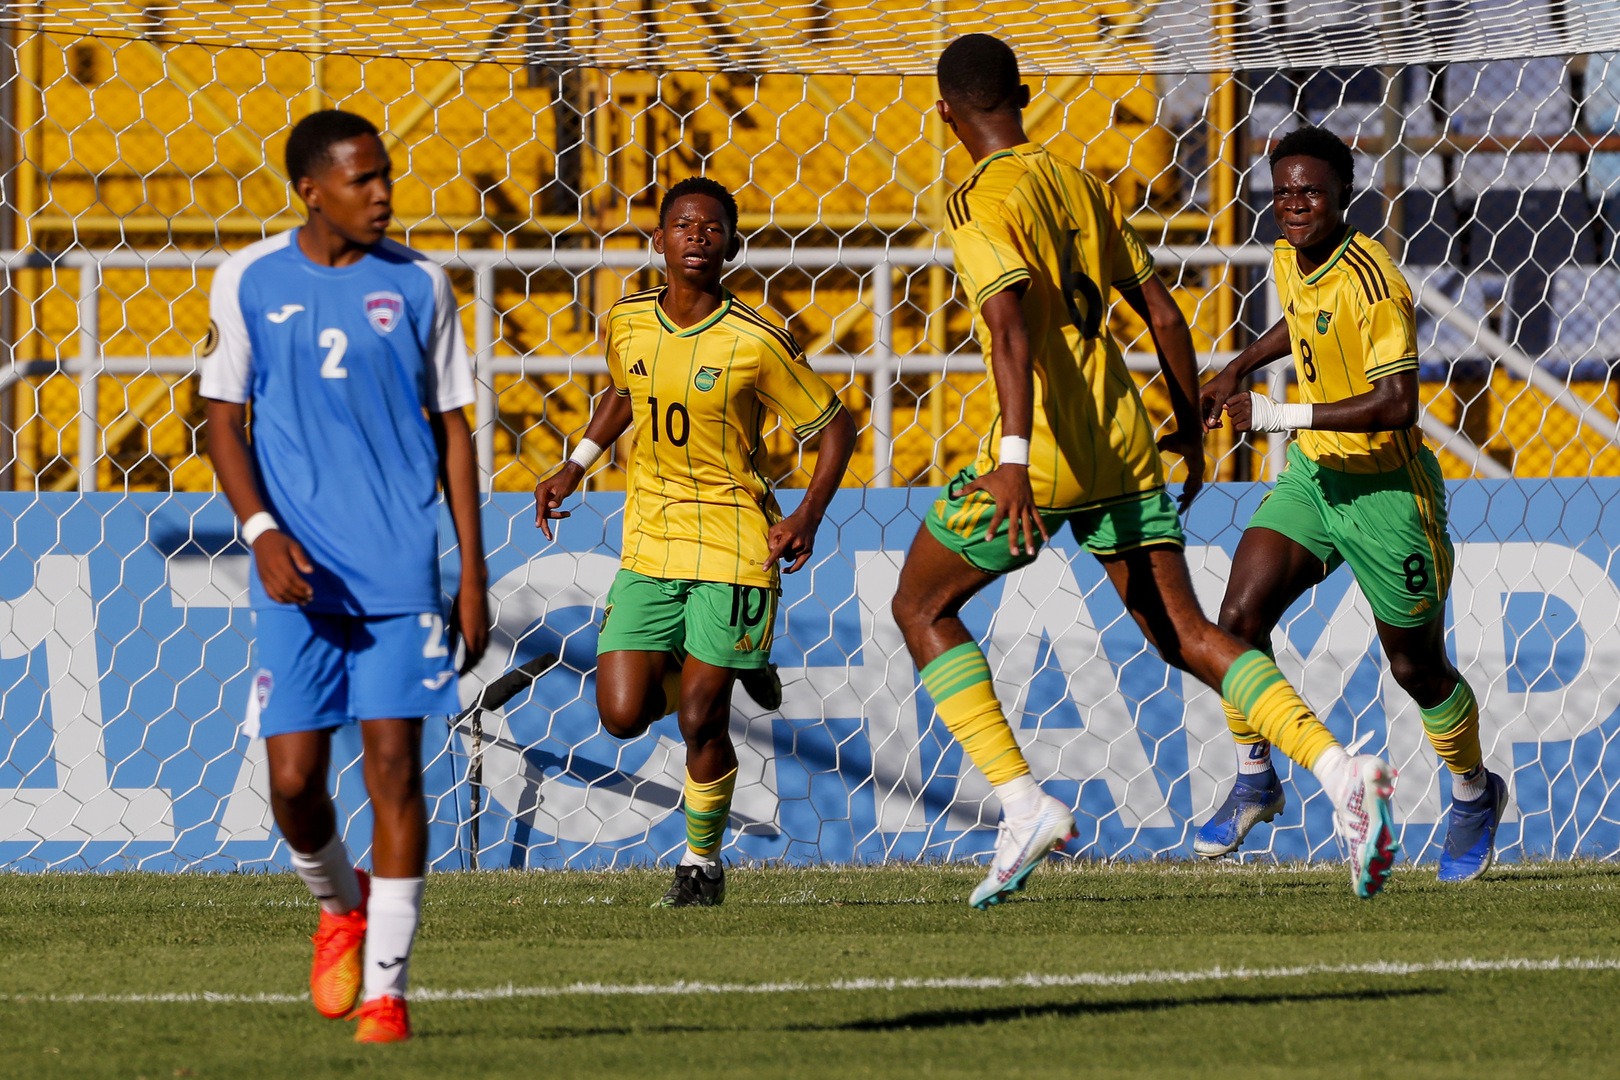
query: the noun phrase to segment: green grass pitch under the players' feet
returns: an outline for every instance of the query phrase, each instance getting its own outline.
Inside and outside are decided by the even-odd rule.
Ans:
[[[1053,865],[974,912],[980,873],[739,868],[680,912],[648,908],[666,871],[439,874],[411,965],[436,996],[374,1048],[308,1002],[139,999],[300,994],[290,874],[0,876],[0,1077],[1620,1074],[1620,868],[1401,868],[1361,902],[1340,868]],[[1498,963],[1324,970],[1468,959]],[[543,994],[577,984],[608,993]],[[504,986],[539,993],[446,994]]]

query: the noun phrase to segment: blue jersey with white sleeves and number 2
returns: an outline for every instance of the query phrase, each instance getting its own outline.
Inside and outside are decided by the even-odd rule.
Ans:
[[[428,411],[470,405],[473,372],[444,270],[384,240],[316,266],[298,230],[214,274],[201,392],[253,403],[259,491],[316,565],[306,610],[439,610],[439,452]],[[249,575],[254,607],[285,607]]]

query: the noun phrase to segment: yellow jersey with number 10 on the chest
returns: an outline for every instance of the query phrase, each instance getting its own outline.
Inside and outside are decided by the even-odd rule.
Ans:
[[[630,398],[635,449],[624,507],[624,565],[650,578],[779,588],[766,533],[782,520],[760,471],[765,411],[808,439],[841,403],[792,334],[723,291],[679,327],[632,293],[608,311],[608,372]]]

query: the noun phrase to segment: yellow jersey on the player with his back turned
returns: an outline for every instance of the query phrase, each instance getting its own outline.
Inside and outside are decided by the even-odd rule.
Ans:
[[[985,157],[946,201],[956,274],[988,368],[982,304],[1022,288],[1035,368],[1029,479],[1043,508],[1071,510],[1165,486],[1153,423],[1119,343],[1108,332],[1108,288],[1153,274],[1147,244],[1108,185],[1035,142]],[[998,465],[1001,406],[978,447],[980,474]]]

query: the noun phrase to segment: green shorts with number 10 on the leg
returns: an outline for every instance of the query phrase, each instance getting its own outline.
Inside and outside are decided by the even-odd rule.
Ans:
[[[608,589],[596,654],[685,653],[714,667],[765,667],[771,662],[779,596],[758,585],[620,570]]]

